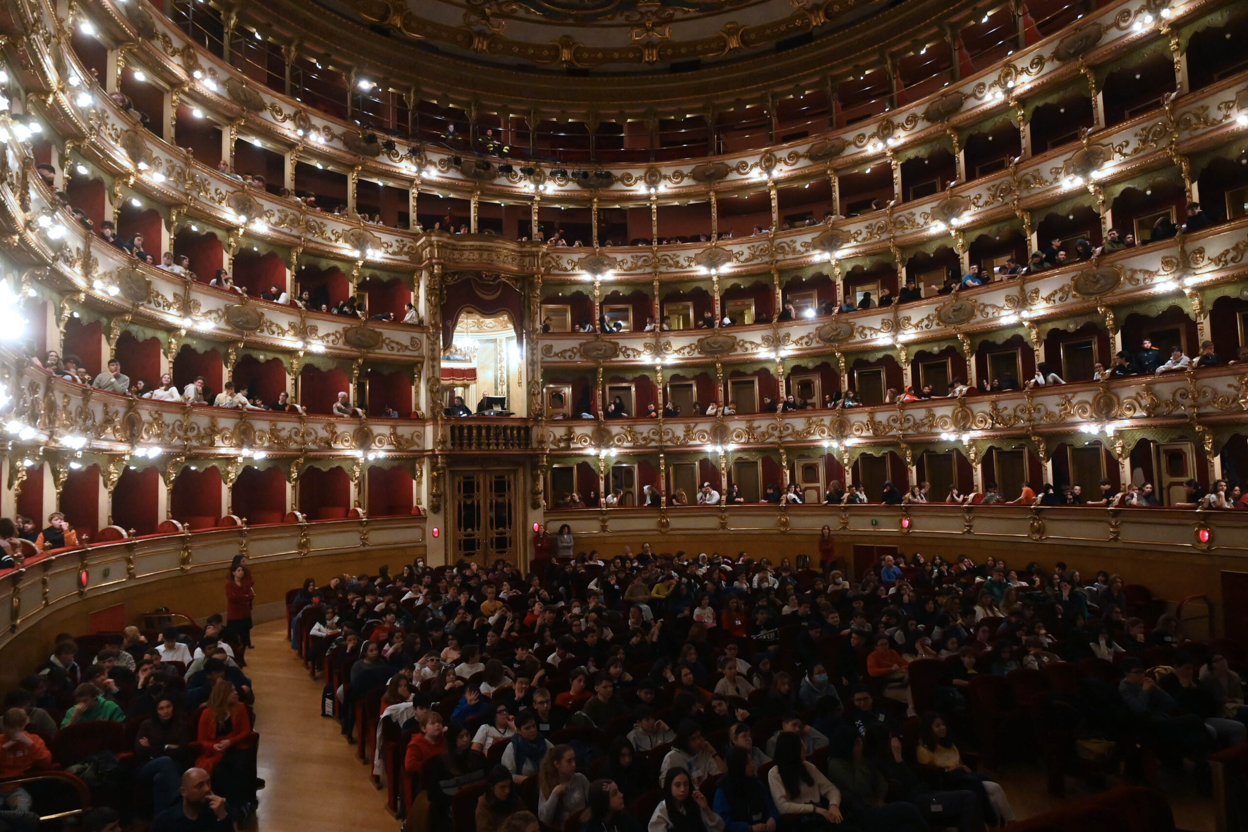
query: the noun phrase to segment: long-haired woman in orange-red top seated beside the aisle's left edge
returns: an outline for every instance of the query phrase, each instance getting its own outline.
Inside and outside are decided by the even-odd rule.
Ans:
[[[196,767],[212,776],[212,790],[243,816],[255,811],[256,762],[252,747],[251,717],[238,701],[233,684],[218,679],[208,704],[200,711],[196,733],[201,750]]]

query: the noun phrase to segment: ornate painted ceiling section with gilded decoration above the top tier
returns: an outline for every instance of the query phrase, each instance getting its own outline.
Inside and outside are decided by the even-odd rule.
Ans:
[[[374,32],[475,62],[635,72],[800,45],[904,0],[314,1]]]

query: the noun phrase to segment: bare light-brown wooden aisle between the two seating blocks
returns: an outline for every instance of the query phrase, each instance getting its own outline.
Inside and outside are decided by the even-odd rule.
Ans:
[[[373,787],[368,766],[338,721],[319,716],[323,686],[295,657],[286,624],[256,627],[252,641],[245,672],[256,690],[258,773],[266,781],[256,828],[396,832],[399,822],[386,811],[386,793]]]

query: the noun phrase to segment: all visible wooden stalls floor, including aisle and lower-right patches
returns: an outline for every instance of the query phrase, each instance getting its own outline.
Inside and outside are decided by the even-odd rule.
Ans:
[[[267,782],[257,812],[261,832],[349,830],[393,832],[399,822],[384,808],[384,793],[368,777],[354,746],[347,745],[337,720],[321,716],[322,684],[313,681],[291,652],[286,625],[275,621],[252,631],[256,650],[247,652],[247,674],[256,689],[260,776]],[[1000,772],[1018,818],[1027,818],[1088,795],[1075,781],[1067,796],[1051,797],[1037,765],[1015,765]],[[1176,826],[1214,832],[1213,803],[1196,795],[1187,778],[1163,783]]]

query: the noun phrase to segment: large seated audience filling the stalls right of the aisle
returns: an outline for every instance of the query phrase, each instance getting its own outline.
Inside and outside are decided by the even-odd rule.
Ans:
[[[292,647],[343,733],[376,737],[408,830],[978,832],[1015,820],[977,767],[1011,753],[1002,685],[1040,694],[1026,674],[1050,667],[1082,685],[1022,717],[1061,726],[1052,755],[1129,773],[1143,748],[1206,790],[1208,753],[1246,738],[1242,656],[1187,642],[1118,575],[916,554],[846,581],[832,560],[535,543],[528,578],[418,559],[290,596]]]

